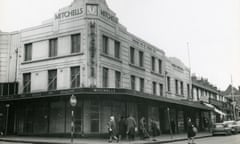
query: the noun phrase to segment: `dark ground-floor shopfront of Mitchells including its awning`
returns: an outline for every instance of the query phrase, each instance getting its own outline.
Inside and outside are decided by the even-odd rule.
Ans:
[[[132,115],[137,123],[145,117],[158,123],[160,133],[186,131],[190,117],[199,130],[208,129],[210,111],[200,103],[177,101],[125,89],[77,89],[15,96],[1,101],[0,131],[8,135],[69,135],[71,95],[77,98],[75,133],[99,136],[107,133],[111,115],[116,121]],[[9,104],[9,107],[6,105]],[[173,128],[174,127],[174,128]],[[6,130],[7,129],[7,130]]]

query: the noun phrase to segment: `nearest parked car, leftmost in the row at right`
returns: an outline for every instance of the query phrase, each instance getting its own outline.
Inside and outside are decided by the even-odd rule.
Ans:
[[[212,135],[216,135],[216,134],[231,135],[232,128],[228,124],[215,123],[212,128]]]

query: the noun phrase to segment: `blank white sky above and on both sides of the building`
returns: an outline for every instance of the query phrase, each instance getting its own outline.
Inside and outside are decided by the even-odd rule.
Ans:
[[[225,90],[240,85],[240,0],[106,0],[128,31]],[[72,0],[0,0],[0,30],[40,25]]]

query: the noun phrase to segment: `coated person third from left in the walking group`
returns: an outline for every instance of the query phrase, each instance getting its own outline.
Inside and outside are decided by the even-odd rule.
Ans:
[[[127,124],[127,136],[129,140],[134,140],[135,139],[135,128],[137,126],[137,123],[134,119],[133,116],[129,115],[129,117],[126,120]]]

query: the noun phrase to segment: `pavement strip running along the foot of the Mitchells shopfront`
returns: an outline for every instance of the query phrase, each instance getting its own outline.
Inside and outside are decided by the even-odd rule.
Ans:
[[[197,134],[196,139],[206,138],[212,136],[208,132],[200,132]],[[140,140],[136,138],[134,141],[122,140],[119,144],[160,144],[160,143],[171,143],[177,141],[187,140],[186,134],[176,135],[161,135],[154,138]],[[4,136],[0,137],[1,142],[15,142],[15,143],[34,143],[34,144],[70,144],[70,138],[62,137],[22,137],[22,136]],[[115,142],[114,142],[115,143]],[[108,144],[107,139],[94,139],[94,138],[75,138],[74,144]]]

